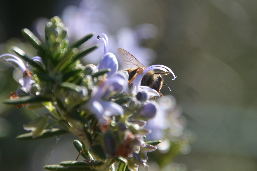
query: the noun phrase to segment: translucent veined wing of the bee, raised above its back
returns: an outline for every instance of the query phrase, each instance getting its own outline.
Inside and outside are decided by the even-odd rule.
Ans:
[[[117,54],[122,60],[122,64],[126,68],[138,68],[143,67],[146,68],[142,63],[140,63],[132,54],[130,54],[128,51],[118,48]]]

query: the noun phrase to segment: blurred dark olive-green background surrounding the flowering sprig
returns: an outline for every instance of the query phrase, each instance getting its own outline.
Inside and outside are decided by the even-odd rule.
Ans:
[[[1,0],[0,54],[16,45],[33,56],[21,29],[33,31],[36,18],[61,17],[67,5],[79,2]],[[109,0],[105,4],[98,10],[109,17],[110,33],[120,26],[155,25],[158,35],[142,45],[157,53],[154,63],[170,67],[177,76],[175,81],[166,76],[165,83],[197,140],[191,152],[178,156],[169,169],[257,170],[257,1]],[[119,10],[108,11],[111,7]],[[13,68],[0,71],[0,101],[18,86],[12,72]],[[162,92],[169,94],[165,87]],[[46,164],[76,158],[72,136],[15,141],[26,132],[22,125],[32,116],[24,111],[0,103],[1,171],[43,170]]]

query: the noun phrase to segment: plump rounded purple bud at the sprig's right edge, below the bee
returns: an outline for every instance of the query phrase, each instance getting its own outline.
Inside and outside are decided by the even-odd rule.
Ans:
[[[139,113],[137,115],[139,116],[143,116],[145,118],[151,119],[153,118],[158,110],[158,105],[156,102],[152,101],[150,103],[147,103],[146,105],[144,105]]]

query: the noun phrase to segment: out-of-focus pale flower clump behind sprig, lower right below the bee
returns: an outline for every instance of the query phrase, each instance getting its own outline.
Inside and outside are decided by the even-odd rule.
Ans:
[[[182,107],[176,104],[175,97],[167,95],[160,97],[157,100],[159,104],[159,111],[157,115],[147,122],[146,127],[152,130],[152,133],[147,135],[148,140],[162,140],[162,143],[157,146],[160,153],[155,153],[156,156],[149,156],[158,162],[158,166],[162,170],[169,170],[170,166],[164,167],[170,164],[172,158],[178,154],[188,154],[191,151],[190,144],[195,142],[196,135],[194,132],[186,129],[187,120],[182,116]],[[169,157],[167,157],[169,156]],[[163,162],[166,158],[169,158],[166,162]],[[158,161],[159,160],[159,161]],[[154,164],[154,167],[157,163]],[[172,164],[172,167],[175,164]],[[150,168],[151,168],[150,164]],[[177,166],[177,165],[176,165]],[[153,167],[153,166],[152,166]],[[183,169],[186,167],[183,165]],[[155,169],[156,170],[156,169]]]

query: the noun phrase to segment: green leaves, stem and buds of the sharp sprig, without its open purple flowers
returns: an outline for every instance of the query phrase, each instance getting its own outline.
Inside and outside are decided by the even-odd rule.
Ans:
[[[22,29],[24,37],[38,51],[42,63],[35,62],[23,50],[12,50],[33,69],[30,91],[19,87],[5,104],[25,106],[29,110],[46,108],[49,113],[25,124],[30,133],[19,135],[16,140],[35,140],[75,134],[81,142],[74,146],[84,161],[63,161],[48,165],[48,170],[137,170],[146,166],[146,152],[156,149],[160,141],[146,141],[136,135],[146,135],[150,130],[144,126],[148,118],[138,115],[145,104],[130,94],[112,94],[105,100],[124,108],[124,115],[110,118],[101,125],[85,104],[90,100],[94,87],[106,79],[110,69],[93,72],[92,64],[83,66],[80,59],[94,51],[98,44],[79,49],[93,34],[69,44],[65,39],[67,28],[59,17],[53,17],[45,26],[45,44],[28,29]],[[19,92],[19,93],[17,93]],[[54,128],[60,125],[62,128]],[[145,137],[145,136],[144,136]],[[137,152],[136,152],[137,151]],[[113,163],[118,167],[114,168]]]

